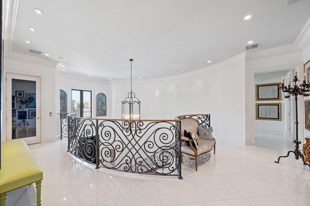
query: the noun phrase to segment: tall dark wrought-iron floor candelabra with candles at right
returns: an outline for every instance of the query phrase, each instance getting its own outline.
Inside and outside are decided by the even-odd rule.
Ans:
[[[304,163],[304,165],[308,165],[310,168],[310,165],[304,161],[304,155],[302,154],[302,152],[299,149],[299,144],[301,144],[301,142],[298,140],[298,113],[297,113],[297,96],[298,95],[303,95],[303,96],[309,96],[309,94],[307,93],[308,91],[310,91],[310,85],[307,83],[306,84],[306,79],[305,76],[303,77],[303,83],[300,84],[299,86],[296,84],[296,82],[298,82],[298,78],[297,78],[297,72],[295,72],[294,75],[294,86],[291,87],[291,81],[289,82],[288,87],[284,86],[284,79],[282,79],[282,85],[279,87],[279,89],[282,89],[283,92],[286,92],[287,95],[285,95],[285,98],[290,98],[292,96],[295,97],[295,116],[296,116],[296,139],[293,141],[295,143],[295,150],[291,150],[288,151],[286,156],[279,156],[278,161],[275,161],[276,163],[279,163],[279,160],[281,157],[288,157],[290,155],[290,153],[294,153],[295,154],[295,159],[298,160],[299,158],[302,159],[302,162]]]

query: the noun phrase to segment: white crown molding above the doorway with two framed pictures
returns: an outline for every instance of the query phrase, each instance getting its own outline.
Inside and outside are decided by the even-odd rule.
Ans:
[[[302,52],[302,49],[298,45],[288,44],[284,46],[263,49],[263,50],[255,51],[255,52],[247,51],[246,59],[247,60],[264,59],[264,58],[271,58],[271,57],[276,57],[276,56],[280,56],[284,54],[292,54],[292,53],[297,53],[297,52]]]

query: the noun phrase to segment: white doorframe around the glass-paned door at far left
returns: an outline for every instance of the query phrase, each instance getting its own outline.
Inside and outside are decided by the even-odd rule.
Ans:
[[[36,144],[36,143],[41,143],[42,141],[42,137],[41,137],[41,129],[42,129],[42,121],[41,121],[41,110],[42,110],[42,76],[41,75],[35,75],[35,74],[22,74],[22,73],[16,73],[16,72],[5,72],[5,87],[3,87],[3,91],[5,91],[5,113],[3,114],[5,116],[5,123],[3,124],[3,127],[5,128],[5,138],[3,138],[2,141],[8,141],[12,139],[12,129],[11,129],[11,122],[12,121],[12,110],[11,109],[7,109],[9,102],[10,105],[9,108],[12,108],[12,104],[11,101],[9,101],[11,99],[11,95],[12,95],[12,83],[11,83],[11,88],[7,88],[7,84],[8,84],[8,79],[7,76],[8,75],[12,75],[12,79],[16,78],[16,79],[25,79],[27,80],[27,77],[30,77],[28,79],[31,79],[31,81],[38,81],[38,84],[36,84],[36,93],[39,95],[39,101],[36,101],[36,136],[35,138],[31,138],[31,137],[26,137],[23,138],[25,140],[25,142],[27,144]],[[11,91],[11,92],[9,92]],[[37,137],[37,135],[39,135],[39,137]]]

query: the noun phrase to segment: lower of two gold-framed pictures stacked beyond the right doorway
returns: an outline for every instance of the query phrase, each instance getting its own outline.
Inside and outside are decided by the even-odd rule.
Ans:
[[[256,103],[257,120],[281,121],[281,103]]]

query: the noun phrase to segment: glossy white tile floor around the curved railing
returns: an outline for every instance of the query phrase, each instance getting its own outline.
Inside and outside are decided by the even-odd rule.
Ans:
[[[288,144],[293,146],[293,144]],[[66,152],[67,139],[30,145],[43,169],[43,206],[309,206],[310,171],[288,149],[217,147],[185,157],[182,177],[126,174],[85,165]],[[9,192],[7,206],[35,206],[34,186]]]

